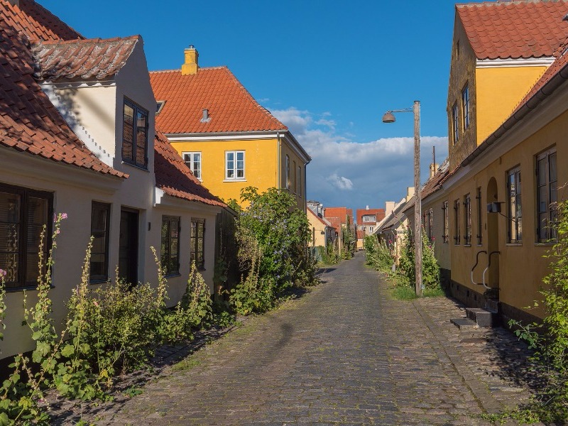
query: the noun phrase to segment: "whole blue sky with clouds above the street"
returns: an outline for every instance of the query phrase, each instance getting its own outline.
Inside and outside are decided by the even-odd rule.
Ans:
[[[140,34],[148,68],[227,65],[312,155],[307,196],[384,207],[413,185],[413,114],[421,102],[422,181],[447,155],[454,1],[38,0],[87,37]]]

